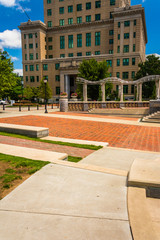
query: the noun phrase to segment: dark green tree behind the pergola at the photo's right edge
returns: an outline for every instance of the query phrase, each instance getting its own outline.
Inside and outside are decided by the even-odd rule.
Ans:
[[[160,59],[154,55],[147,56],[144,63],[140,63],[139,71],[135,79],[145,77],[147,75],[160,75]],[[143,98],[155,98],[155,82],[143,83]]]

